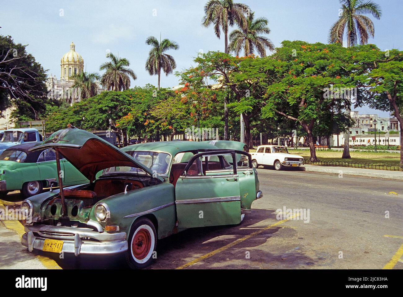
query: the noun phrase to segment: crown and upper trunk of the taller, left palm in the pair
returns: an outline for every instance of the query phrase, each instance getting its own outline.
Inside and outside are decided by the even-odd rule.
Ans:
[[[224,52],[228,53],[228,27],[237,23],[245,28],[247,19],[244,13],[249,12],[249,6],[243,3],[234,3],[233,0],[210,0],[204,6],[202,26],[214,25],[214,33],[220,38],[221,29],[224,32]]]

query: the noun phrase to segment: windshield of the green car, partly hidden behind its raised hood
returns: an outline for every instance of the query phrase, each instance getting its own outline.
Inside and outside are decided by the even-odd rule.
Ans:
[[[150,168],[153,172],[159,174],[164,174],[168,171],[168,165],[171,160],[169,154],[166,153],[159,153],[159,152],[148,152],[148,151],[132,151],[132,152],[125,152],[135,158],[135,160],[144,166]],[[110,167],[104,170],[103,174],[105,173],[112,173],[112,172],[136,172],[136,173],[144,173],[143,170],[136,168],[136,167],[129,167],[129,166],[118,166],[118,167]]]

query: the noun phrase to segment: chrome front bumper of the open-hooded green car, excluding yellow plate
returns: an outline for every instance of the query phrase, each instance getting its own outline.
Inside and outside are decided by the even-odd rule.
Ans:
[[[43,250],[45,239],[63,241],[62,252],[78,255],[115,255],[127,251],[126,233],[96,232],[89,228],[50,225],[25,226],[21,243],[28,251]],[[35,234],[34,234],[35,233]],[[92,239],[92,240],[91,240]],[[96,240],[96,241],[94,241]]]

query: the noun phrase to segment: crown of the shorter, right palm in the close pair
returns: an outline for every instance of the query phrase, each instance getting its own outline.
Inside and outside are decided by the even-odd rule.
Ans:
[[[267,26],[268,20],[265,17],[255,20],[253,19],[254,15],[255,13],[249,14],[245,28],[239,27],[229,34],[231,41],[229,49],[239,55],[243,48],[245,56],[249,56],[255,52],[256,48],[261,57],[266,57],[266,48],[273,51],[274,44],[267,37],[258,34],[270,34],[270,29]]]

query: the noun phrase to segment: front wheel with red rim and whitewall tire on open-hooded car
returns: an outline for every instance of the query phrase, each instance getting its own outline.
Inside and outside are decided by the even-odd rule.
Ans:
[[[154,224],[147,218],[137,219],[133,223],[128,240],[129,249],[125,254],[130,268],[145,268],[152,263],[157,247],[156,234]]]

